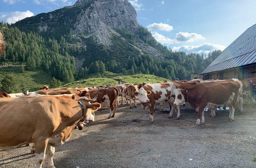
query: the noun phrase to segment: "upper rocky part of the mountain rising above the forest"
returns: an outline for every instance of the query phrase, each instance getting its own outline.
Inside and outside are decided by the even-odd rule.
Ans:
[[[86,59],[88,65],[97,60],[127,63],[146,53],[163,59],[159,49],[164,47],[157,48],[156,40],[136,18],[136,11],[127,0],[80,0],[72,6],[25,18],[13,26],[57,40],[65,37],[70,45],[83,48],[73,55]]]

